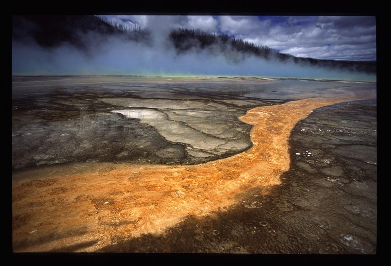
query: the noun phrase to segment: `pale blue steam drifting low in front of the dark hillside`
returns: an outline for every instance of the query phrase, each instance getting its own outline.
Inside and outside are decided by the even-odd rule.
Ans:
[[[375,80],[375,75],[300,66],[293,62],[265,60],[228,51],[189,50],[177,53],[168,40],[169,32],[151,31],[149,44],[120,36],[81,34],[87,49],[63,43],[43,48],[32,38],[13,40],[13,75],[188,75],[188,76],[269,76]],[[213,49],[212,49],[213,50]],[[239,59],[238,59],[239,58]]]

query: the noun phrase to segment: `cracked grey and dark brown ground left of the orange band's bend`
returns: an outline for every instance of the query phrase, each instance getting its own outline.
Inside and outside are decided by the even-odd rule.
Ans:
[[[173,86],[153,93],[140,92],[140,84],[90,86],[58,87],[44,96],[42,86],[15,89],[13,169],[70,162],[197,164],[228,157],[252,145],[251,126],[238,117],[283,102],[201,97]]]

